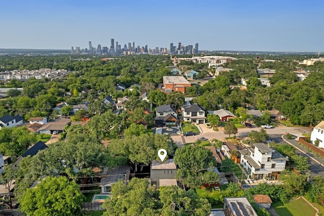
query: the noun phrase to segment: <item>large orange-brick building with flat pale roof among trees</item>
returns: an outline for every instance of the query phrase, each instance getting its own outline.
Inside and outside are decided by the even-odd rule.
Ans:
[[[186,87],[190,87],[191,84],[186,78],[182,76],[164,76],[162,91],[170,93],[172,91],[181,91],[185,93]]]

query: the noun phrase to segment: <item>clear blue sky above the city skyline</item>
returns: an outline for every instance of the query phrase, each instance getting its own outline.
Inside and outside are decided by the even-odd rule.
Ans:
[[[0,0],[0,48],[324,51],[324,1]]]

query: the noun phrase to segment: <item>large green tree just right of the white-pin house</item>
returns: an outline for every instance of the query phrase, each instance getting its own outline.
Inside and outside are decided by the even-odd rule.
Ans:
[[[177,149],[174,163],[179,166],[176,178],[189,187],[219,182],[219,175],[214,171],[216,159],[213,153],[200,146],[184,146]]]

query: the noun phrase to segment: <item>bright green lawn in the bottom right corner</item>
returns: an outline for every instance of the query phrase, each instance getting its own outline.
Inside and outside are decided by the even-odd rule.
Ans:
[[[271,205],[280,216],[311,216],[316,214],[316,210],[303,198],[296,199],[286,204],[275,202]]]

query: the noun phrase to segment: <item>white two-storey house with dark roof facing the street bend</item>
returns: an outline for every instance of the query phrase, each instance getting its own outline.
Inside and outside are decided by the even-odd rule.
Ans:
[[[205,107],[194,103],[192,105],[181,107],[184,121],[196,124],[204,124],[206,121]]]

